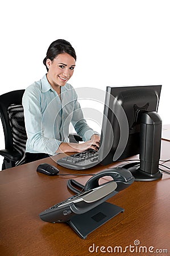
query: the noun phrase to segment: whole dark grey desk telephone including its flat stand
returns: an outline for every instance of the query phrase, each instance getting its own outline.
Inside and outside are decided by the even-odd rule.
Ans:
[[[99,185],[99,179],[104,176],[111,176],[113,180]],[[44,210],[39,216],[47,222],[67,222],[81,238],[86,238],[98,226],[124,211],[105,201],[133,182],[130,171],[107,169],[91,177],[80,193]]]

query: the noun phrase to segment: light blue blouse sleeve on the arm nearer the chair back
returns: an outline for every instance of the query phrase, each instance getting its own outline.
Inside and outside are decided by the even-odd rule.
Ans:
[[[40,90],[29,86],[24,92],[22,104],[28,137],[26,151],[55,155],[61,141],[43,135]]]

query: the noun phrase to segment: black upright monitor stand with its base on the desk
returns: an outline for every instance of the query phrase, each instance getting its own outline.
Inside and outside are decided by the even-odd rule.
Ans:
[[[154,181],[161,178],[159,171],[161,147],[161,118],[156,112],[141,114],[140,123],[140,166],[139,163],[121,164],[128,169],[135,181]]]

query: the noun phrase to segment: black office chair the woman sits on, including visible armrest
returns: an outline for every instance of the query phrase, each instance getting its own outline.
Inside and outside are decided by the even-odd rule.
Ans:
[[[24,123],[22,97],[24,90],[14,90],[0,96],[0,117],[5,137],[2,170],[19,166],[25,162],[27,134]],[[69,142],[78,143],[82,138],[69,134]]]

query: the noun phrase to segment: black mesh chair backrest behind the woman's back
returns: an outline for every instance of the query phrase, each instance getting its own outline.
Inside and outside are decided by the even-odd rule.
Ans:
[[[24,90],[14,90],[0,96],[0,116],[5,136],[5,148],[18,151],[22,155],[15,166],[24,162],[27,141],[22,106],[23,93]]]

